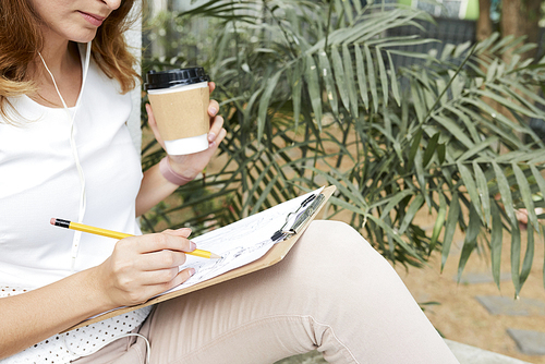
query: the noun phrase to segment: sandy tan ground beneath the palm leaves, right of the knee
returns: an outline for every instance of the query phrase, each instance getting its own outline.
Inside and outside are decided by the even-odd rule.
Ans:
[[[419,219],[423,227],[433,227],[433,216],[421,214]],[[522,231],[525,241],[526,231]],[[399,272],[414,299],[422,302],[437,301],[439,305],[427,306],[425,313],[432,324],[447,338],[481,349],[517,357],[535,364],[545,364],[545,355],[524,355],[517,349],[516,342],[507,335],[507,328],[545,331],[545,316],[508,316],[489,314],[475,299],[476,295],[496,295],[512,299],[514,288],[510,281],[510,236],[504,235],[501,272],[507,276],[500,289],[493,282],[458,283],[455,276],[458,271],[458,254],[463,242],[463,234],[458,232],[451,256],[440,272],[440,256],[435,254],[429,265],[422,269],[409,269],[398,266]],[[521,291],[521,299],[536,299],[545,303],[543,282],[544,244],[536,240],[533,269]],[[481,256],[474,254],[464,270],[468,274],[491,272],[489,252]]]

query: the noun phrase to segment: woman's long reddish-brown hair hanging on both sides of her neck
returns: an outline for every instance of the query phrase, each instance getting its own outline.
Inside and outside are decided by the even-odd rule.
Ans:
[[[47,0],[46,0],[47,1]],[[129,13],[134,0],[123,0],[97,29],[92,57],[104,73],[116,78],[121,92],[136,86],[140,75],[134,71],[136,59],[125,43],[123,33],[130,27]],[[44,46],[40,17],[28,0],[0,1],[0,117],[10,121],[8,97],[36,90],[29,77],[29,64]]]

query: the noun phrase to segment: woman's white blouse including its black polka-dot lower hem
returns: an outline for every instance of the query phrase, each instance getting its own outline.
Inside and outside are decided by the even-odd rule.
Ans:
[[[92,61],[80,98],[74,138],[85,174],[83,223],[141,234],[135,198],[142,169],[125,125],[131,97],[121,95],[119,84]],[[26,121],[19,117],[14,125],[0,120],[0,298],[72,274],[76,232],[49,221],[77,221],[82,191],[66,110],[41,106],[26,96],[10,101]],[[74,271],[101,264],[114,244],[116,240],[83,233]],[[135,329],[149,311],[142,308],[55,336],[0,363],[69,363]]]

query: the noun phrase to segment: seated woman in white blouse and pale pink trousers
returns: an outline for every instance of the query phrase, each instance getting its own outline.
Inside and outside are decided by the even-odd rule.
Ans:
[[[209,148],[142,174],[124,124],[132,5],[0,3],[0,362],[271,363],[318,349],[334,363],[457,363],[391,267],[332,221],[271,268],[59,335],[185,281],[194,271],[178,266],[195,244],[189,229],[113,244],[49,219],[138,235],[135,218],[195,178],[226,135],[210,101]]]

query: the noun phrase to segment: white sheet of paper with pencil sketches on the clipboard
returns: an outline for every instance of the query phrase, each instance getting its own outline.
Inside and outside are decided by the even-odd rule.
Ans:
[[[191,287],[261,258],[275,244],[271,236],[286,223],[287,216],[296,211],[308,196],[319,194],[322,190],[192,239],[198,248],[218,254],[221,258],[203,259],[187,255],[187,260],[180,269],[195,268],[195,275],[165,293]]]

